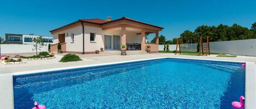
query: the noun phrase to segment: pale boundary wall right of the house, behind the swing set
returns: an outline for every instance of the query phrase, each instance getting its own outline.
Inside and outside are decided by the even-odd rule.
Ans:
[[[159,50],[163,50],[163,49],[164,49],[164,45],[159,45]],[[175,50],[176,44],[170,44],[169,49]],[[186,44],[183,44],[183,50],[196,51],[197,43],[193,43],[193,44],[189,43],[187,44],[187,46]],[[256,39],[210,42],[210,52],[224,53],[224,54],[231,54],[231,55],[256,56]]]

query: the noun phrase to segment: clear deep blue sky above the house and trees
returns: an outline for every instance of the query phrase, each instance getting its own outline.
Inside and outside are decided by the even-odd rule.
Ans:
[[[0,1],[0,36],[5,33],[52,36],[49,30],[79,18],[112,19],[126,16],[164,30],[166,39],[193,31],[199,25],[240,24],[251,28],[256,22],[256,1],[170,0],[170,1]],[[152,37],[151,37],[152,38]]]

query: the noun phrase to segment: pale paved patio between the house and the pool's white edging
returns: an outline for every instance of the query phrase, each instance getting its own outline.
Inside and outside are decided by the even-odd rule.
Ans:
[[[183,57],[183,58],[192,58],[192,59],[251,61],[256,63],[256,57],[251,57],[251,56],[216,57],[216,55],[193,56],[193,55],[174,55],[169,53],[139,54],[139,55],[126,55],[126,56],[105,55],[105,54],[90,54],[90,55],[79,54],[82,61],[66,62],[66,63],[58,62],[63,55],[64,54],[57,54],[55,59],[50,59],[50,60],[26,61],[26,63],[22,65],[0,65],[0,74],[22,72],[22,71],[28,71],[28,70],[38,70],[38,69],[92,65],[97,63],[150,59],[150,58],[156,58],[156,57]]]

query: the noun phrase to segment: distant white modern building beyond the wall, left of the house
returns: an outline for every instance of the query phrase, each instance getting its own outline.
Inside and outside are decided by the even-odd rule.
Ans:
[[[33,39],[36,39],[39,35],[24,35],[24,34],[5,34],[5,42],[7,44],[34,44]],[[42,41],[45,44],[52,44],[52,36],[43,36]]]

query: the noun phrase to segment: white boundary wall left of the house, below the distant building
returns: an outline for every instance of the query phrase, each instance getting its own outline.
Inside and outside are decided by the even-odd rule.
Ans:
[[[31,53],[35,52],[32,44],[1,44],[1,54],[4,53]],[[40,48],[38,52],[47,52],[48,46]]]

